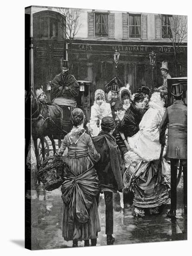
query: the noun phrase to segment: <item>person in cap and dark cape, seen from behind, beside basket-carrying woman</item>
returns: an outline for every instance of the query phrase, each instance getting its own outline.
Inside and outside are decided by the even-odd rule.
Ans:
[[[119,148],[113,137],[115,122],[113,117],[106,116],[101,121],[101,131],[98,136],[92,138],[93,144],[100,154],[99,162],[95,163],[100,189],[104,191],[106,204],[106,239],[107,244],[114,243],[113,234],[113,193],[123,189],[122,162]],[[116,194],[114,194],[116,195]],[[99,203],[99,194],[97,196]]]

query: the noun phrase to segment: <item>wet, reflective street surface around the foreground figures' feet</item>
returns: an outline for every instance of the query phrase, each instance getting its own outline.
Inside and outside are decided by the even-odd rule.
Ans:
[[[182,179],[181,179],[182,180]],[[42,185],[31,191],[32,198],[32,249],[56,249],[72,247],[72,241],[66,242],[62,237],[62,199],[60,189],[44,192]],[[135,218],[134,208],[121,209],[117,196],[113,198],[114,217],[114,244],[150,243],[160,241],[186,240],[187,216],[183,210],[183,185],[178,188],[177,219],[172,222],[166,217],[170,208],[166,205],[162,212],[156,216],[147,215],[144,218]],[[38,198],[38,194],[39,198]],[[97,245],[106,245],[105,234],[105,201],[100,195],[99,216],[101,231]],[[84,246],[79,242],[78,246]]]

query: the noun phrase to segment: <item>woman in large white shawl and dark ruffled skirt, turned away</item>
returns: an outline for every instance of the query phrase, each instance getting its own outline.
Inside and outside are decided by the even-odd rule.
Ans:
[[[124,185],[134,192],[135,213],[144,216],[144,210],[159,213],[158,207],[169,202],[170,166],[163,158],[158,168],[161,145],[159,124],[165,112],[165,99],[160,93],[153,93],[149,109],[144,114],[139,132],[128,137],[130,151],[125,154],[127,170]],[[165,155],[166,150],[164,149]]]

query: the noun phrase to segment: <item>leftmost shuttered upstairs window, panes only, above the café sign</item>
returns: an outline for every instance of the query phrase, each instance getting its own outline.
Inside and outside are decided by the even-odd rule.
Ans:
[[[108,37],[108,13],[95,13],[95,36]]]

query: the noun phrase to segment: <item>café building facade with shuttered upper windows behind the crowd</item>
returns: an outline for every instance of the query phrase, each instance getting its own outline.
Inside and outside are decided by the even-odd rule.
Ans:
[[[60,72],[67,51],[57,19],[58,8],[32,7],[31,10],[33,83],[34,88],[39,88]],[[71,46],[71,73],[77,80],[93,81],[93,91],[104,89],[116,74],[123,84],[130,84],[132,92],[143,85],[158,87],[163,82],[162,61],[168,62],[172,77],[186,76],[186,37],[177,48],[178,70],[175,68],[172,44],[178,36],[172,31],[175,17],[180,16],[81,9],[78,20],[81,26]],[[113,59],[115,51],[120,54],[117,68]],[[153,66],[149,58],[152,51],[156,54]]]

